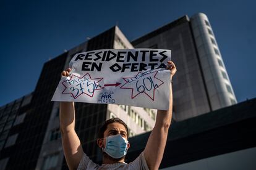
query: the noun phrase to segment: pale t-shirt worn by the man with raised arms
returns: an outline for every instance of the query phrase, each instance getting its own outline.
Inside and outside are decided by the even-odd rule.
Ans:
[[[138,158],[136,158],[136,160],[132,161],[131,163],[127,164],[127,163],[113,163],[113,164],[102,164],[101,166],[94,163],[92,160],[90,160],[90,158],[83,153],[83,157],[80,160],[79,166],[77,168],[78,170],[91,170],[91,169],[97,169],[97,170],[103,170],[103,169],[135,169],[135,170],[139,170],[139,169],[145,169],[145,170],[149,170],[148,169],[148,165],[147,162],[145,160],[145,156],[144,153],[140,153],[140,155],[138,156]]]

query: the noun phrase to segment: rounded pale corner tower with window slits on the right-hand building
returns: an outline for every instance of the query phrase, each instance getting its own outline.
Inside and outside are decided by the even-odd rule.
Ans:
[[[211,107],[216,110],[237,103],[207,15],[195,14],[191,25]]]

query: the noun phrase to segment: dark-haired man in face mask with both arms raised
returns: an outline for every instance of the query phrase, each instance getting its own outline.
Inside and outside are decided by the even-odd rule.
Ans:
[[[173,78],[176,66],[168,62],[166,68],[171,71]],[[70,68],[62,71],[61,76],[69,76]],[[151,131],[147,145],[143,152],[129,164],[124,162],[128,142],[128,127],[119,118],[108,119],[100,129],[97,139],[98,147],[103,153],[103,164],[100,166],[83,152],[79,137],[75,132],[74,102],[60,103],[60,129],[62,135],[62,148],[69,169],[158,169],[163,158],[164,148],[171,124],[173,110],[172,86],[170,86],[169,110],[158,110],[155,127]]]

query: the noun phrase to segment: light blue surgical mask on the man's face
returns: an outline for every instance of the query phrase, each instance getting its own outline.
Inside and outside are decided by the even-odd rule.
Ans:
[[[127,153],[128,140],[124,139],[121,134],[106,137],[106,147],[103,152],[106,152],[112,158],[122,158]]]

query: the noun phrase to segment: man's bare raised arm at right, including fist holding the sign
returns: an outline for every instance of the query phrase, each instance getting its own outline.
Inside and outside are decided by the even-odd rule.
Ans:
[[[171,70],[171,79],[176,73],[176,67],[173,62],[168,62],[168,70]],[[150,169],[158,169],[164,153],[168,129],[171,125],[171,116],[173,113],[173,90],[170,84],[169,110],[158,110],[156,124],[148,138],[144,150],[145,159]]]

